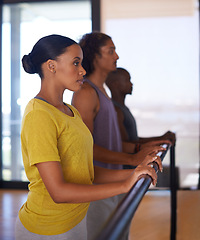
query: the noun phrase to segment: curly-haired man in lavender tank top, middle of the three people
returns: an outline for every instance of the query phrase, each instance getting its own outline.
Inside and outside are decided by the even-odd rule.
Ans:
[[[79,45],[83,50],[82,65],[86,76],[81,89],[73,94],[72,105],[93,135],[94,165],[108,169],[122,169],[124,164],[137,166],[147,155],[159,151],[160,146],[148,146],[138,151],[137,145],[122,143],[115,108],[104,88],[107,75],[116,69],[119,58],[115,45],[110,36],[100,32],[85,34]],[[96,238],[121,198],[115,196],[90,204],[88,240]],[[121,239],[128,239],[128,233]]]

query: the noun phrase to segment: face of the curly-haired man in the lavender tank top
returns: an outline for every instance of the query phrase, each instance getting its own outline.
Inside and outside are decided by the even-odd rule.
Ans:
[[[108,40],[106,44],[100,48],[100,56],[97,55],[95,58],[95,68],[100,68],[101,71],[108,74],[109,72],[116,70],[118,59],[119,56],[115,51],[113,41]]]

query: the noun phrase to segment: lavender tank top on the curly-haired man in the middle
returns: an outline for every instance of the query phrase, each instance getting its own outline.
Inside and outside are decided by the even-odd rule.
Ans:
[[[94,143],[108,150],[121,152],[122,141],[117,113],[111,99],[107,98],[94,83],[88,79],[85,81],[96,90],[100,102],[99,112],[94,120]],[[94,165],[109,169],[122,169],[122,165],[103,163],[96,161],[95,159]]]

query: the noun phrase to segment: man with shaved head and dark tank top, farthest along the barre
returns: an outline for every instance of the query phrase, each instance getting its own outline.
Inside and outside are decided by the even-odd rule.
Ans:
[[[125,97],[127,94],[132,94],[133,87],[131,76],[127,70],[117,68],[110,72],[106,79],[106,85],[111,91],[112,101],[117,111],[122,141],[144,144],[157,140],[170,140],[172,144],[175,144],[175,134],[170,131],[156,137],[138,136],[135,118],[125,105]]]

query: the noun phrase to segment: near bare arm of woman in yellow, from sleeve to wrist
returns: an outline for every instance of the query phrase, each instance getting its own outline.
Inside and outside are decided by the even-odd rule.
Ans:
[[[56,203],[91,202],[126,191],[123,181],[100,185],[66,182],[60,162],[43,162],[36,166],[47,191]]]

